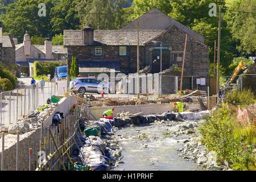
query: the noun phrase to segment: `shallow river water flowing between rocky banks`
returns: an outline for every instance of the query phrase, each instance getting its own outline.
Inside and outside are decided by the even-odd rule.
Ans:
[[[163,123],[148,126],[127,127],[118,130],[115,134],[119,135],[118,140],[123,147],[121,159],[123,164],[119,164],[114,170],[125,171],[187,171],[202,170],[197,164],[177,156],[177,149],[182,146],[179,138],[164,137],[170,127]],[[139,134],[146,134],[148,139],[135,139]]]

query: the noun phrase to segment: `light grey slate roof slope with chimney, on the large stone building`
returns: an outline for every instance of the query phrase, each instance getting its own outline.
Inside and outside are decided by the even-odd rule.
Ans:
[[[141,46],[164,30],[140,30],[139,44]],[[85,46],[82,30],[64,30],[64,46]],[[94,45],[135,46],[137,45],[137,30],[94,30]]]

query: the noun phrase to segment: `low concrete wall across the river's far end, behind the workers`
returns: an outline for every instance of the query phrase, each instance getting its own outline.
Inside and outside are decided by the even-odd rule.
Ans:
[[[115,111],[114,115],[117,113],[121,113],[122,111],[136,114],[143,112],[142,115],[148,114],[157,114],[157,113],[164,113],[167,111],[174,111],[174,107],[172,104],[146,104],[146,105],[133,105],[133,106],[114,106]],[[112,106],[104,106],[104,107],[92,107],[90,108],[90,119],[100,119],[104,111],[111,109]],[[200,109],[200,104],[191,104],[189,103],[189,109]],[[89,114],[89,111],[88,111]]]

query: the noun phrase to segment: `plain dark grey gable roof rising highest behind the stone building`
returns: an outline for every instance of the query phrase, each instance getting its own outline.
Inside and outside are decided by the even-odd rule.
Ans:
[[[172,19],[170,16],[167,16],[158,9],[148,11],[146,14],[135,19],[127,26],[121,28],[121,30],[135,30],[137,29],[137,22],[139,22],[140,30],[167,30],[172,26],[176,26],[188,35],[191,35],[200,42],[204,43],[204,36],[197,34],[195,31],[177,22],[175,19]]]

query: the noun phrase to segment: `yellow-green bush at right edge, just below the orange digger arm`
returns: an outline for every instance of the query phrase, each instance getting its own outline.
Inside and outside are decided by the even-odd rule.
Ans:
[[[230,90],[225,94],[224,101],[233,105],[250,105],[254,104],[254,93],[251,89]]]

